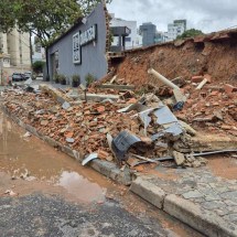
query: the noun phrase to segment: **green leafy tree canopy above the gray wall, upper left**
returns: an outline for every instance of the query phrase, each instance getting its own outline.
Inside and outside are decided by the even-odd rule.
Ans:
[[[35,34],[43,46],[65,32],[103,0],[1,0],[0,31]],[[107,0],[107,3],[111,0]]]

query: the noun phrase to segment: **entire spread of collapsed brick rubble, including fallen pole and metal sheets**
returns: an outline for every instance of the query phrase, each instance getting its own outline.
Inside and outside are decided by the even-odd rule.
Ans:
[[[142,95],[114,76],[109,83],[82,86],[82,96],[45,85],[41,91],[10,89],[4,106],[40,133],[79,151],[84,165],[101,159],[136,169],[174,160],[177,166],[197,168],[206,160],[179,150],[182,143],[193,151],[190,140],[196,130],[237,137],[237,87],[217,86],[209,75],[186,82],[169,80],[152,68],[148,73],[157,80]],[[155,82],[164,85],[155,87]]]

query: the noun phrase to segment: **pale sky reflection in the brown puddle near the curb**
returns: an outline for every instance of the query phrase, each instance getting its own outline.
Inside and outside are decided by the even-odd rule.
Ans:
[[[105,201],[106,188],[89,182],[76,172],[64,171],[57,185],[63,186],[69,194],[83,202]]]

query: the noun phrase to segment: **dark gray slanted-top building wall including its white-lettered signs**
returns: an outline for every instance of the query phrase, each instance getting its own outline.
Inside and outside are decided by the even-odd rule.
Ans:
[[[47,73],[51,80],[56,74],[63,74],[68,79],[77,74],[84,83],[87,74],[96,78],[107,74],[106,14],[106,7],[98,4],[88,17],[80,19],[47,47]]]

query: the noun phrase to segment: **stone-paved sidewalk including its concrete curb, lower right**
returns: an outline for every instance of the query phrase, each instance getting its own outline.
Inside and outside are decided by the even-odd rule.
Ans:
[[[237,161],[217,159],[220,165],[229,165],[220,172],[222,176],[231,179],[215,175],[211,165],[198,169],[160,165],[152,174],[139,175],[131,191],[204,235],[237,236]]]

